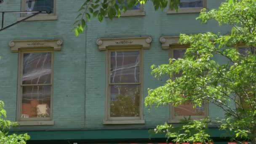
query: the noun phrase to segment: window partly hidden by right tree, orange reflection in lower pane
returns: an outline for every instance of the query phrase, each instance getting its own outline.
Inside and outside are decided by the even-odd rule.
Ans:
[[[182,58],[186,52],[187,47],[182,45],[174,45],[171,46],[170,56],[172,59]],[[175,77],[181,76],[180,74],[176,74]],[[206,117],[208,111],[208,104],[203,104],[201,107],[193,108],[193,103],[191,101],[187,101],[184,104],[179,105],[178,107],[170,106],[171,112],[171,123],[179,123],[180,120],[184,119],[184,117],[191,116],[192,119],[203,119]]]

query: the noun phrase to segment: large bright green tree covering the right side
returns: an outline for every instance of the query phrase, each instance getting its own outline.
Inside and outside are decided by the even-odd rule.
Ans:
[[[202,23],[216,20],[220,25],[232,26],[229,35],[212,32],[195,35],[180,35],[180,44],[189,44],[185,56],[170,59],[169,64],[152,66],[152,75],[162,77],[182,72],[180,77],[168,79],[158,88],[149,89],[146,106],[173,104],[178,106],[185,101],[193,101],[194,107],[205,101],[215,104],[225,113],[219,121],[221,130],[232,131],[235,140],[251,141],[256,144],[256,0],[240,0],[236,3],[222,3],[219,9],[203,9]],[[247,52],[239,53],[237,47],[246,45]],[[226,59],[220,63],[216,57]],[[184,98],[184,96],[186,96]],[[208,120],[193,123],[212,123]],[[205,125],[204,124],[204,125]],[[166,125],[160,126],[156,131]],[[184,128],[184,127],[183,127]],[[170,128],[169,128],[170,129]],[[186,134],[188,128],[180,131]],[[203,129],[202,129],[203,131]],[[170,130],[169,130],[170,132]],[[171,133],[174,131],[171,131]],[[205,139],[193,138],[182,141],[205,142]],[[179,135],[173,137],[179,140]]]

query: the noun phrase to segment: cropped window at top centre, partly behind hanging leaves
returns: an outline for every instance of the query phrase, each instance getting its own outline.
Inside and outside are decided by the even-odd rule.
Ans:
[[[118,2],[116,1],[118,4]],[[127,7],[127,3],[124,1],[125,6]],[[120,5],[119,8],[122,10],[122,6]],[[137,3],[135,6],[133,6],[131,9],[127,8],[127,11],[125,13],[122,12],[121,16],[144,16],[144,5],[141,5],[140,3]]]

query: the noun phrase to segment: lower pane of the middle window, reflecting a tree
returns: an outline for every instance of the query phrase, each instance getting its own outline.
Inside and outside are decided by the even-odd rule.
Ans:
[[[139,117],[139,85],[111,85],[110,116]]]

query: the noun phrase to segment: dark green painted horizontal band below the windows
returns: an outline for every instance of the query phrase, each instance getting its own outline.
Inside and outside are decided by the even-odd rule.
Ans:
[[[30,140],[67,140],[67,139],[156,139],[165,138],[164,134],[151,134],[149,129],[131,130],[65,130],[65,131],[13,131],[12,133],[28,133]],[[215,138],[229,137],[218,128],[210,128],[209,133]]]

